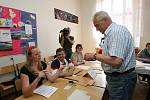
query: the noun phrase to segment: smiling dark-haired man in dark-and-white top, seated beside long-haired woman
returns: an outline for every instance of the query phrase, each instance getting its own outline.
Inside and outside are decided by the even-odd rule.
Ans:
[[[65,59],[65,52],[63,48],[58,48],[56,50],[56,58],[51,63],[51,69],[56,70],[59,69],[61,66],[64,67],[64,70],[60,73],[61,77],[64,76],[70,76],[73,74],[74,65]],[[70,70],[66,70],[67,68],[70,68]]]

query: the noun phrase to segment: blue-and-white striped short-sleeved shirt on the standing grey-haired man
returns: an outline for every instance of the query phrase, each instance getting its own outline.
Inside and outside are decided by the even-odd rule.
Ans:
[[[105,31],[103,54],[106,56],[115,56],[123,59],[119,68],[113,68],[111,65],[102,63],[105,72],[125,72],[136,66],[133,39],[124,26],[112,23]]]

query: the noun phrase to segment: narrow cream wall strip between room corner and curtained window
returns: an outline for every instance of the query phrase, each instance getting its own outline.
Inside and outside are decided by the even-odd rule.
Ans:
[[[95,52],[96,39],[93,36],[92,17],[96,10],[96,0],[81,0],[81,34],[84,52]]]

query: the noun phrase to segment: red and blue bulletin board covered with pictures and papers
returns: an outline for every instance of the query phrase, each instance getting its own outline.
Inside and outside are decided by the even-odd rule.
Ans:
[[[0,6],[0,56],[25,53],[37,46],[36,14]]]

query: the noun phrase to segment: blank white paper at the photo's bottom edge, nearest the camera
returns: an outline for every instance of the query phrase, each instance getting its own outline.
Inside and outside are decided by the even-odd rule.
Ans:
[[[87,95],[86,91],[76,89],[67,100],[90,100],[90,96]]]

